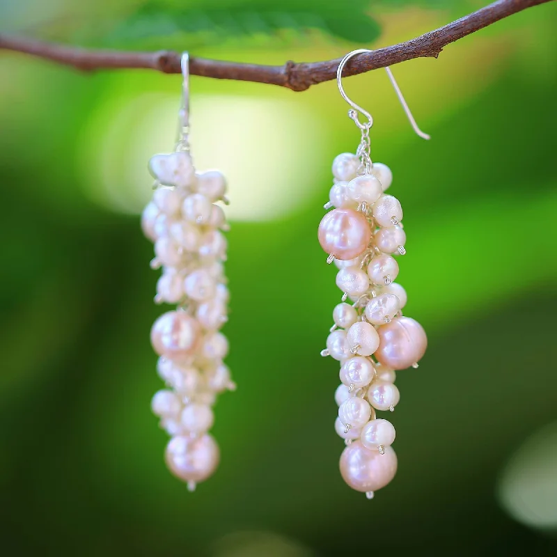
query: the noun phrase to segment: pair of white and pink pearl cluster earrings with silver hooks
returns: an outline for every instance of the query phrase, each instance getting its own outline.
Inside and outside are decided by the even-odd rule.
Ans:
[[[322,356],[340,362],[341,384],[335,429],[345,440],[340,473],[345,482],[371,499],[395,475],[391,448],[393,425],[376,410],[393,411],[400,395],[395,372],[417,368],[427,338],[418,322],[402,315],[407,295],[395,282],[406,234],[398,199],[384,191],[393,175],[370,158],[370,113],[350,100],[341,83],[347,61],[340,61],[337,84],[352,107],[348,116],[361,131],[355,154],[333,162],[334,185],[318,231],[327,263],[338,267],[336,284],[342,301],[333,311],[334,325]],[[385,68],[414,131],[423,139],[393,74]],[[151,343],[159,355],[157,370],[167,389],[152,398],[152,411],[171,436],[165,458],[170,471],[190,490],[217,468],[219,448],[207,433],[213,425],[217,394],[233,391],[230,370],[223,363],[228,340],[220,332],[227,320],[228,288],[223,271],[228,223],[226,180],[219,171],[198,173],[189,153],[189,56],[182,55],[183,100],[175,152],[150,159],[155,178],[152,201],[143,211],[142,228],[155,242],[151,267],[162,267],[157,303],[177,304],[152,327]],[[361,122],[359,114],[366,120]],[[350,300],[351,303],[348,303]]]

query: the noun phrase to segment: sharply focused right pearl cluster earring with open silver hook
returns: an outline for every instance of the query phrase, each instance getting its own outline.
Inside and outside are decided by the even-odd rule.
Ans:
[[[338,90],[352,107],[348,116],[361,130],[361,142],[356,155],[343,153],[334,159],[334,185],[324,208],[335,208],[323,217],[318,236],[328,254],[327,263],[338,267],[336,284],[343,292],[342,302],[333,311],[327,348],[321,352],[340,361],[335,430],[347,445],[340,457],[340,473],[352,489],[372,499],[397,469],[391,448],[395,428],[377,418],[375,411],[394,410],[400,398],[395,371],[418,367],[427,338],[418,322],[402,316],[406,292],[394,282],[398,262],[393,255],[406,253],[406,234],[400,202],[384,194],[393,174],[388,166],[372,163],[369,132],[373,118],[347,97],[341,82],[347,61],[362,52],[370,51],[350,52],[336,73]],[[385,70],[414,131],[430,139],[416,125],[391,70]],[[368,121],[362,123],[359,113]]]

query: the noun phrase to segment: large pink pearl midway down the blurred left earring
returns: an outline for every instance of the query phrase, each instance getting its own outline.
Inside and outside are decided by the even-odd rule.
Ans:
[[[151,344],[159,356],[179,361],[195,350],[199,336],[198,323],[185,311],[167,311],[152,326]]]

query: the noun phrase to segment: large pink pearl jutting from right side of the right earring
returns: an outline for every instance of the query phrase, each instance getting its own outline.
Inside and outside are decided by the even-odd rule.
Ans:
[[[377,329],[379,348],[375,357],[386,368],[405,370],[425,354],[427,337],[421,324],[410,317],[395,317]]]

